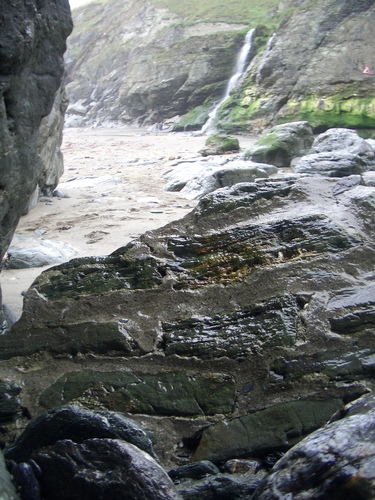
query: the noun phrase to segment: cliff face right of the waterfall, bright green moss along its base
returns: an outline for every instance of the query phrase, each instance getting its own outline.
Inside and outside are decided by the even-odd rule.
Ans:
[[[249,69],[242,91],[227,103],[222,126],[259,129],[308,120],[315,130],[373,129],[371,49],[373,0],[301,2]]]

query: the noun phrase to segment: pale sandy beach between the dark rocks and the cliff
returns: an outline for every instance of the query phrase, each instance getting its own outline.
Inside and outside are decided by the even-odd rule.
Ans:
[[[199,157],[206,136],[146,129],[66,129],[58,190],[21,218],[17,235],[72,245],[77,255],[106,255],[142,233],[183,217],[196,205],[164,191],[176,159]],[[247,148],[254,138],[240,138]],[[47,266],[50,267],[50,266]],[[47,267],[3,270],[3,303],[19,316],[22,291]]]

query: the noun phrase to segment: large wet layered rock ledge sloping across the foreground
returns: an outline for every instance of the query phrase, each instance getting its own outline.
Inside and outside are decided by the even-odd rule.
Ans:
[[[287,449],[374,388],[368,179],[219,189],[108,257],[44,272],[0,337],[0,377],[27,379],[33,415],[78,403],[131,416],[165,463]]]

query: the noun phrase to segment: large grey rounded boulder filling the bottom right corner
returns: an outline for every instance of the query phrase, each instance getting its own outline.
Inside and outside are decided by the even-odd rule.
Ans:
[[[252,498],[374,498],[375,413],[361,406],[289,450]]]

